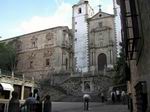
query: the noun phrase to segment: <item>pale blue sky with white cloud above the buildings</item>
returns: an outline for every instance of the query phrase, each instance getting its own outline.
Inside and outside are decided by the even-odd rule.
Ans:
[[[55,26],[71,28],[72,6],[79,0],[0,0],[1,40]],[[89,0],[98,12],[113,14],[112,0]]]

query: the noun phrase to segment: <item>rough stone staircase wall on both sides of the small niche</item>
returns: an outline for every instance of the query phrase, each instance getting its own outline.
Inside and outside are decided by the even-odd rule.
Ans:
[[[112,86],[112,79],[108,76],[89,76],[86,80],[90,79],[92,84],[92,91],[89,92],[92,95],[99,95],[101,92],[107,95],[107,91]],[[70,77],[62,85],[67,91],[67,94],[73,96],[82,96],[85,92],[83,91],[83,83],[85,77]]]

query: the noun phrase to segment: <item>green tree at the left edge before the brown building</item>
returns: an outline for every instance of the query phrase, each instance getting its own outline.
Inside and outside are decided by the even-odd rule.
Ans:
[[[13,42],[0,43],[0,68],[14,71],[16,65],[16,50]]]

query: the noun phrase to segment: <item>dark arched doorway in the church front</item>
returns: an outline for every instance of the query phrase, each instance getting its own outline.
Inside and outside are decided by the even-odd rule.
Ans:
[[[98,55],[98,71],[104,70],[105,66],[107,66],[107,57],[106,54],[101,53]]]

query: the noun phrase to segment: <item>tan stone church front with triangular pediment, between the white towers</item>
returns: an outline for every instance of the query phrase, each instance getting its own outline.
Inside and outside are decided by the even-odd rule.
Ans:
[[[89,69],[112,69],[116,63],[116,37],[114,15],[101,12],[88,19]]]

